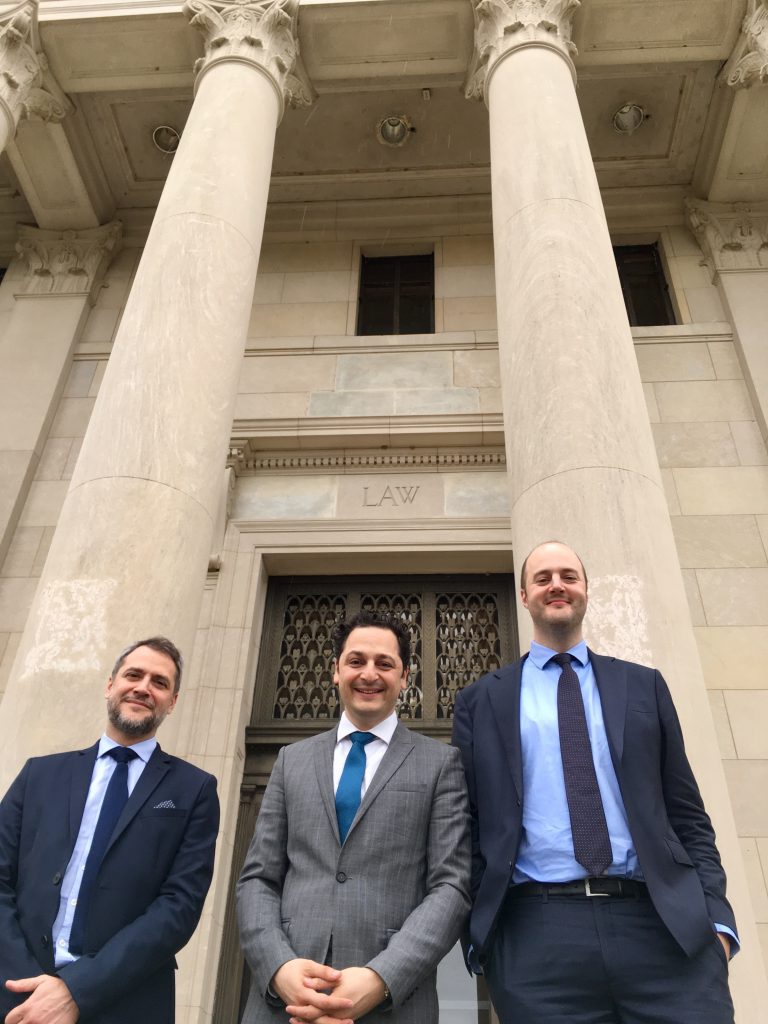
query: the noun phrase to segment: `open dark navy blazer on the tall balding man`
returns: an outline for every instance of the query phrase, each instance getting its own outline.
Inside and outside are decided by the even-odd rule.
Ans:
[[[527,655],[526,655],[527,656]],[[689,956],[713,924],[736,929],[715,833],[685,755],[662,675],[590,651],[630,833],[653,905]],[[509,887],[522,831],[520,676],[524,658],[483,676],[456,701],[454,743],[472,811],[469,941],[481,966]]]

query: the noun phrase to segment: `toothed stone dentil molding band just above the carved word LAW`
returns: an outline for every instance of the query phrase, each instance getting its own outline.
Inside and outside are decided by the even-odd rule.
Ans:
[[[372,473],[419,472],[436,469],[494,470],[506,465],[503,447],[464,451],[393,449],[389,452],[261,452],[250,441],[229,443],[227,467],[241,473]]]

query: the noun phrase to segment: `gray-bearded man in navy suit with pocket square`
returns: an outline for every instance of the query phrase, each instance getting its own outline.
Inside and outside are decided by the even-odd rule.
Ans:
[[[163,637],[132,644],[100,740],[32,758],[0,803],[5,1024],[174,1019],[174,955],[200,920],[219,820],[215,778],[155,739],[181,668]]]

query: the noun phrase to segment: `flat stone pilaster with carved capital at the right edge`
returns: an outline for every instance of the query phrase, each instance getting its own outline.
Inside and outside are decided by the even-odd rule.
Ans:
[[[733,325],[744,382],[768,442],[768,204],[685,205]]]

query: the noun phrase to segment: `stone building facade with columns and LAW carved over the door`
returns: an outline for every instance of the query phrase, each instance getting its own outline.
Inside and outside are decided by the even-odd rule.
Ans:
[[[404,614],[445,736],[549,537],[591,644],[670,681],[765,1019],[766,39],[768,0],[0,5],[0,786],[97,735],[124,641],[190,655],[161,738],[222,826],[179,1021],[237,1020],[328,623]],[[445,1021],[489,1020],[458,974]]]

